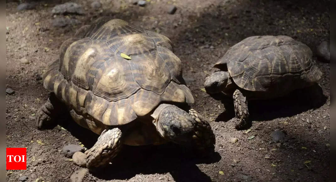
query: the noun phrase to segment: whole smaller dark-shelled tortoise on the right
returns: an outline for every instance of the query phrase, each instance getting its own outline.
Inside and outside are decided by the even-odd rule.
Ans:
[[[220,69],[205,78],[208,93],[232,96],[236,129],[250,124],[247,100],[284,96],[311,86],[322,76],[305,44],[288,36],[252,36],[232,46],[214,65]]]

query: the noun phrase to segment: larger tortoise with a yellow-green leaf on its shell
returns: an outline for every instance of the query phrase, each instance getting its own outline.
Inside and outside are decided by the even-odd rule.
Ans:
[[[36,124],[39,129],[55,125],[66,110],[80,126],[99,134],[85,151],[90,171],[107,165],[122,144],[172,141],[205,155],[214,149],[209,123],[188,110],[194,98],[167,37],[101,17],[81,27],[60,50],[43,74],[51,95]]]

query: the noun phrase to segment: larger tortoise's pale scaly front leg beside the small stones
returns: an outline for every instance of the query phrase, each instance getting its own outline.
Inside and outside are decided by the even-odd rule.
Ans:
[[[95,171],[109,164],[121,149],[121,136],[119,128],[104,130],[93,147],[85,151],[86,167]]]

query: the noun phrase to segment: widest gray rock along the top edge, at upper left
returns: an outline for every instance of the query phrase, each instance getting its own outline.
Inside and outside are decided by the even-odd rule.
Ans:
[[[64,4],[56,5],[55,7],[52,8],[51,13],[52,14],[79,14],[79,15],[85,14],[83,7],[73,2],[67,2]]]

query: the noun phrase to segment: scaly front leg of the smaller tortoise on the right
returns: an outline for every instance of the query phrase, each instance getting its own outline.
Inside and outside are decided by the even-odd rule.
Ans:
[[[239,123],[236,124],[236,129],[246,129],[251,125],[249,121],[249,111],[247,108],[246,97],[240,92],[239,89],[236,89],[233,94],[233,102],[235,106],[236,118],[239,120]]]

